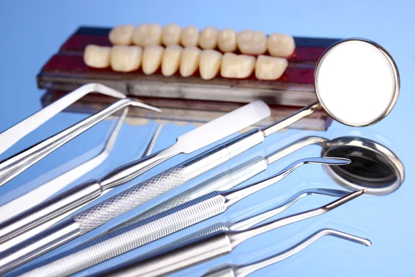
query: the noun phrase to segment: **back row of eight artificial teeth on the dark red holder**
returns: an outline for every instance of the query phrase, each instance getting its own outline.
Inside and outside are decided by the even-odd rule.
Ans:
[[[272,33],[268,37],[259,30],[235,30],[226,28],[218,30],[206,27],[201,32],[195,26],[187,26],[182,30],[177,24],[140,24],[136,28],[127,24],[114,27],[109,33],[109,40],[114,45],[131,45],[140,47],[154,45],[199,46],[202,49],[219,48],[221,52],[234,52],[239,49],[242,54],[263,55],[273,57],[289,57],[295,49],[291,35]]]

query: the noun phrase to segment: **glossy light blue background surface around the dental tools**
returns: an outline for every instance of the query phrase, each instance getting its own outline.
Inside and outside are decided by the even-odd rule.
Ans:
[[[321,228],[336,228],[372,240],[372,247],[362,247],[337,238],[322,238],[297,256],[257,271],[252,276],[414,276],[415,254],[413,197],[414,161],[412,143],[414,105],[415,36],[413,34],[414,3],[411,1],[1,1],[0,3],[0,131],[41,108],[42,91],[36,87],[35,75],[41,66],[55,53],[64,40],[80,25],[114,26],[116,24],[140,24],[157,22],[165,25],[175,22],[181,26],[195,25],[199,28],[234,28],[235,30],[262,30],[265,33],[281,32],[297,36],[313,37],[365,37],[384,46],[394,57],[401,77],[401,93],[396,107],[382,122],[366,127],[353,128],[335,123],[328,132],[304,132],[291,130],[275,134],[266,143],[243,154],[218,170],[209,172],[188,184],[194,186],[201,179],[213,176],[257,155],[273,150],[298,139],[315,134],[336,138],[348,134],[366,136],[387,145],[403,161],[406,179],[395,193],[383,197],[360,197],[321,217],[299,222],[292,226],[260,235],[237,247],[223,258],[194,267],[187,274],[200,275],[223,262],[245,263],[265,258],[295,244],[306,235]],[[17,143],[0,159],[41,141],[85,115],[59,114],[27,138]],[[67,168],[85,161],[99,152],[110,132],[113,120],[93,127],[49,157],[0,188],[0,204],[8,202],[29,188],[38,186],[55,176],[51,170],[64,172],[59,164],[69,162]],[[124,124],[116,147],[102,166],[91,171],[80,181],[99,177],[111,168],[138,157],[148,135],[154,132],[155,123],[143,126]],[[192,125],[167,125],[156,144],[160,150],[174,143],[177,136],[192,129]],[[288,163],[303,157],[315,157],[320,149],[312,146],[271,165],[255,180],[270,176]],[[176,157],[162,166],[147,172],[146,179],[155,172],[169,168],[187,157]],[[38,177],[35,181],[35,177]],[[253,179],[252,179],[253,180]],[[32,183],[28,184],[29,181]],[[133,181],[127,186],[136,184]],[[37,184],[34,184],[37,183]],[[326,177],[320,166],[304,166],[281,183],[244,199],[227,212],[237,218],[252,205],[266,204],[270,199],[282,200],[289,193],[304,188],[340,188]],[[125,188],[125,187],[124,187]],[[106,197],[120,191],[113,190]],[[174,192],[175,193],[175,192]],[[136,211],[127,213],[101,228],[71,242],[74,245],[86,238],[107,230],[137,213],[142,208],[160,202],[165,195]],[[284,215],[303,211],[324,204],[325,197],[308,197],[295,204]],[[269,206],[268,206],[269,208]],[[184,275],[183,273],[182,275]]]

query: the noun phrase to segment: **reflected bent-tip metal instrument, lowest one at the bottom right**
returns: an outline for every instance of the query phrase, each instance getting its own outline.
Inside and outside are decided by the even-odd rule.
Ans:
[[[351,235],[349,233],[344,233],[338,230],[321,229],[309,235],[307,238],[295,244],[293,247],[290,247],[285,251],[270,256],[269,258],[265,258],[264,260],[259,260],[257,262],[252,262],[247,265],[224,265],[222,267],[217,267],[216,269],[208,271],[206,274],[203,275],[203,277],[246,277],[252,272],[258,271],[259,269],[263,269],[265,267],[269,267],[270,265],[274,265],[277,262],[281,262],[282,260],[286,260],[287,258],[294,256],[299,251],[306,249],[306,247],[308,247],[313,242],[324,237],[324,235],[331,235],[335,238],[340,238],[342,240],[349,240],[350,242],[362,244],[365,247],[371,246],[371,241],[365,238],[360,238],[356,235]]]

